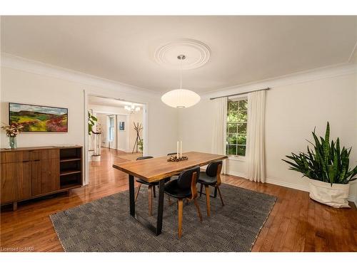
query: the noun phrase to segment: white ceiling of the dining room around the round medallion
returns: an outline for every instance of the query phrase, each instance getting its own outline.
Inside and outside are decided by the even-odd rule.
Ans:
[[[183,70],[183,88],[206,93],[347,63],[357,16],[1,16],[3,52],[156,92],[179,87],[178,70],[154,59],[177,38],[210,48]]]

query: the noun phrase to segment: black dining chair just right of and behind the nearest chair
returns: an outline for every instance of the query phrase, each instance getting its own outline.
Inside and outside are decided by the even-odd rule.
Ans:
[[[206,168],[206,172],[201,172],[200,177],[198,178],[198,183],[201,184],[200,189],[200,197],[202,195],[203,185],[206,189],[206,209],[207,209],[207,216],[211,215],[211,207],[210,207],[210,192],[209,187],[214,187],[215,192],[218,190],[219,197],[221,198],[222,206],[224,206],[224,202],[222,199],[221,190],[219,186],[221,185],[221,169],[222,169],[223,162],[221,160],[217,162],[211,162],[208,164]],[[216,194],[215,194],[216,197]]]

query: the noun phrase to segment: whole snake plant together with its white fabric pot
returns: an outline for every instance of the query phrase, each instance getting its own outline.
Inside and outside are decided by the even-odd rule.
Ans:
[[[357,166],[349,167],[351,148],[340,147],[340,140],[330,143],[330,125],[327,122],[325,138],[312,132],[313,148],[307,147],[308,152],[291,153],[286,156],[291,161],[283,159],[291,165],[290,169],[301,172],[303,177],[310,179],[310,198],[336,208],[349,207],[348,192],[350,182],[357,174]],[[309,142],[309,141],[308,141]]]

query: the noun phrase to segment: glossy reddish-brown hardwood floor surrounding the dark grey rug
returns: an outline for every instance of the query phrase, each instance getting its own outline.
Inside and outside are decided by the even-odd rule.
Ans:
[[[1,207],[1,251],[63,251],[50,214],[129,188],[128,177],[111,167],[123,162],[116,150],[103,150],[101,162],[91,162],[89,185],[20,202],[17,211]],[[278,197],[253,251],[357,251],[357,209],[333,209],[312,201],[307,192],[273,184],[258,184],[222,175],[223,182]]]

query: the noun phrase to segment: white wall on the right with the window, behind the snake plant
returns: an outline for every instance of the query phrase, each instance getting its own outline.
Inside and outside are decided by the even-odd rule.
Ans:
[[[318,135],[324,135],[327,121],[331,125],[331,137],[340,137],[342,145],[353,147],[350,162],[354,166],[357,164],[356,72],[336,73],[326,78],[321,78],[320,74],[311,78],[311,73],[308,73],[309,78],[305,82],[300,77],[298,81],[286,85],[281,80],[275,80],[277,86],[267,93],[267,182],[307,189],[307,179],[301,178],[298,172],[288,170],[288,165],[281,159],[291,152],[305,151],[308,145],[306,139],[311,140],[313,128],[316,126]],[[254,85],[250,86],[254,88]],[[233,92],[230,90],[229,93]],[[184,151],[211,152],[212,118],[213,103],[207,98],[192,108],[179,110],[179,138],[183,140]],[[227,169],[228,173],[244,177],[246,162],[228,160]],[[350,194],[357,197],[356,182],[353,182]]]

